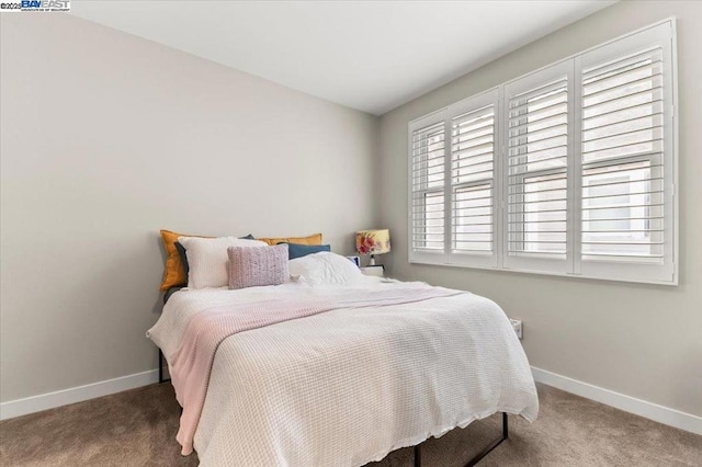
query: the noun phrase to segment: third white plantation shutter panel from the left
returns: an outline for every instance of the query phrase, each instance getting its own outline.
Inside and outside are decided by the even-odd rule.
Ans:
[[[571,267],[571,89],[570,62],[505,87],[506,267]]]

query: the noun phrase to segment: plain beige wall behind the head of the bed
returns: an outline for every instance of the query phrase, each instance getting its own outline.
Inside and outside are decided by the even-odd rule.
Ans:
[[[376,227],[377,117],[64,14],[1,15],[1,400],[156,368],[160,228]]]

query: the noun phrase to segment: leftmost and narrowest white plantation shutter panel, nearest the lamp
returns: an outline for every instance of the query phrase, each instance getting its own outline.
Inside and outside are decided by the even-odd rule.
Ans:
[[[444,112],[410,127],[410,261],[443,262],[445,253],[446,137]]]

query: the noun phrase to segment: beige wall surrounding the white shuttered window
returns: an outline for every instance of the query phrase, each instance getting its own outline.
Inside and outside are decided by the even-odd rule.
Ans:
[[[669,16],[678,20],[680,286],[407,262],[409,121]],[[393,236],[384,257],[390,272],[492,298],[524,320],[533,366],[702,415],[701,48],[702,2],[620,2],[383,115],[381,218]]]

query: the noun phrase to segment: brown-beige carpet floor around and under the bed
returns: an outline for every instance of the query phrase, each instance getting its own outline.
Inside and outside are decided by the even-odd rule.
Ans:
[[[702,466],[702,436],[539,386],[533,424],[510,417],[510,437],[488,466]],[[195,466],[176,442],[180,411],[170,384],[0,422],[2,466]],[[422,446],[426,467],[462,466],[499,435],[499,415]],[[233,466],[236,463],[231,464]],[[367,467],[412,466],[412,449]],[[246,466],[250,467],[250,466]]]

